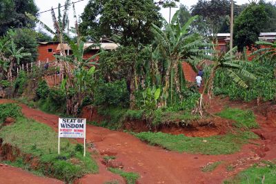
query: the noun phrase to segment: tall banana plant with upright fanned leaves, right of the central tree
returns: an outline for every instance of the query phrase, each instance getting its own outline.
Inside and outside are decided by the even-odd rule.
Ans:
[[[183,99],[181,95],[181,88],[179,83],[179,64],[185,59],[201,54],[202,48],[208,43],[197,37],[197,34],[190,32],[190,24],[197,19],[198,16],[191,17],[187,23],[181,27],[177,12],[173,18],[172,23],[165,21],[164,29],[157,25],[152,25],[152,32],[155,35],[157,47],[161,52],[163,59],[166,59],[166,74],[162,81],[164,85],[162,96],[168,96],[168,88],[170,87],[170,101],[172,101],[172,88],[175,85],[179,99]],[[166,99],[166,98],[164,98]],[[162,102],[166,105],[166,101]]]

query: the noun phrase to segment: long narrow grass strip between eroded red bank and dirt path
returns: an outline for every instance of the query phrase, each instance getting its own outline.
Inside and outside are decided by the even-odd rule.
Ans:
[[[188,152],[191,154],[233,154],[238,152],[249,139],[257,139],[253,132],[239,132],[224,136],[210,136],[206,138],[188,137],[184,134],[172,135],[162,132],[141,132],[135,134],[142,141],[150,145],[159,145],[167,150]],[[204,141],[205,140],[205,141]]]

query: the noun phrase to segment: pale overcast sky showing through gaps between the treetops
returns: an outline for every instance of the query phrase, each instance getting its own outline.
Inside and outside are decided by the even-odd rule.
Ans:
[[[71,2],[72,1],[78,1],[78,0],[71,0]],[[137,1],[139,1],[139,0],[137,0]],[[236,0],[236,1],[237,1],[237,4],[248,3],[248,0]],[[59,3],[61,3],[61,5],[63,5],[65,0],[35,0],[35,2],[37,3],[37,6],[39,7],[39,12],[43,12],[45,10],[50,10],[51,7],[56,8]],[[75,3],[76,12],[79,16],[83,12],[83,9],[85,8],[87,3],[88,3],[88,0],[83,0],[78,3]],[[179,4],[183,4],[184,6],[188,6],[188,8],[190,8],[190,6],[193,6],[195,3],[197,3],[197,0],[180,0],[180,3],[178,3],[178,6],[179,6]],[[174,14],[176,10],[177,10],[177,8],[172,8],[172,14]],[[74,21],[73,15],[72,15],[72,8],[70,9],[69,12],[70,12],[69,19],[72,20],[71,21],[71,23],[72,23]],[[162,9],[161,14],[163,14],[163,17],[168,21],[169,9],[168,8]],[[39,19],[41,21],[43,21],[43,23],[46,23],[46,25],[50,25],[50,27],[52,28],[52,18],[51,18],[50,12],[42,13],[40,15]]]

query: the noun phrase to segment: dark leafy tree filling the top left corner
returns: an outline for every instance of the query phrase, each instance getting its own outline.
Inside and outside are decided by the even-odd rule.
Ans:
[[[10,28],[34,28],[35,23],[25,12],[37,17],[39,8],[34,0],[1,0],[0,1],[0,36]]]

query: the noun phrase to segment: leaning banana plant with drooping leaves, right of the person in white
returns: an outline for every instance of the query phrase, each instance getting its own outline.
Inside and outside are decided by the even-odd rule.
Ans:
[[[248,88],[248,85],[244,82],[245,78],[252,80],[256,79],[253,74],[244,69],[246,65],[252,65],[252,63],[237,60],[235,54],[231,54],[237,52],[237,47],[223,54],[219,54],[219,51],[216,52],[217,54],[205,55],[204,59],[197,59],[195,57],[188,59],[188,62],[194,67],[197,65],[203,65],[206,62],[211,63],[206,67],[206,70],[209,70],[210,74],[206,80],[199,102],[199,108],[197,109],[201,115],[204,110],[203,94],[207,93],[209,100],[211,99],[213,96],[213,83],[215,75],[219,72],[219,70],[224,71],[228,75],[229,79],[235,81],[235,83],[240,85],[242,88]]]

